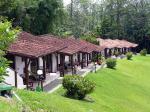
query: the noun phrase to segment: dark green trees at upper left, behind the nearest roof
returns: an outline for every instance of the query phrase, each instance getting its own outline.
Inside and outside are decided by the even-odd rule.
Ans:
[[[0,14],[13,20],[14,26],[36,35],[57,34],[65,20],[62,0],[4,0],[0,6],[5,9]]]

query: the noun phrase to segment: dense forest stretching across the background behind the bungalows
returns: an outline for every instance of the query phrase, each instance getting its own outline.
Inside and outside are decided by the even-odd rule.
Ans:
[[[1,0],[0,15],[35,35],[126,39],[150,50],[150,0]]]

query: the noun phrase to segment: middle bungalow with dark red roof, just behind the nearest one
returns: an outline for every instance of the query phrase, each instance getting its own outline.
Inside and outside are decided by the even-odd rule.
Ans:
[[[74,74],[75,65],[81,68],[88,66],[92,61],[92,54],[94,52],[100,53],[103,50],[100,46],[72,37],[62,40],[68,47],[62,49],[59,53],[65,54],[65,64],[67,64],[66,66],[70,65],[72,74]]]

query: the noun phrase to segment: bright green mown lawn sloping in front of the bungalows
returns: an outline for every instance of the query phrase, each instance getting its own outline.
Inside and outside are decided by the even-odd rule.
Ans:
[[[53,94],[18,91],[25,105],[35,112],[150,112],[150,57],[118,60],[116,70],[101,69],[87,76],[96,83],[89,96],[94,102]]]

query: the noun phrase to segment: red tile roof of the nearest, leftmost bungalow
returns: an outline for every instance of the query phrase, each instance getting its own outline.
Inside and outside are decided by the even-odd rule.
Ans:
[[[8,53],[25,57],[39,57],[59,51],[65,47],[63,41],[51,35],[37,37],[27,32],[22,32],[16,42],[10,45]]]

